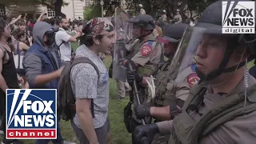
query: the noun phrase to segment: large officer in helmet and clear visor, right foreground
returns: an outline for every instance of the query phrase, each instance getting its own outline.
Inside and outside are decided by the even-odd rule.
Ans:
[[[255,34],[222,34],[222,1],[208,6],[186,30],[186,53],[174,66],[179,70],[194,58],[200,82],[174,120],[136,127],[137,143],[150,143],[156,133],[170,134],[170,144],[254,143],[256,80],[246,63],[255,58],[255,41]]]

